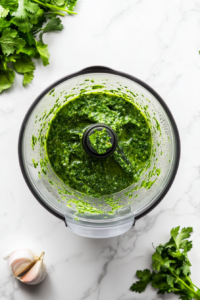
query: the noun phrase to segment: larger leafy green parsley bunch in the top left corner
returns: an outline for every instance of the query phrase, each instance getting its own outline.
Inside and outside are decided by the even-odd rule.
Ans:
[[[76,1],[0,0],[0,93],[11,87],[14,70],[24,75],[24,86],[32,81],[33,58],[41,58],[44,66],[49,64],[43,34],[62,30],[58,15],[65,16],[61,11],[75,14]]]

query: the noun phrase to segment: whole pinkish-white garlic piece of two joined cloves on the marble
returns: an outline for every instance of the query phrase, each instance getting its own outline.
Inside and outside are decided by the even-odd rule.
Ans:
[[[27,284],[38,284],[46,276],[46,267],[43,263],[44,252],[38,257],[29,249],[19,249],[4,259],[8,260],[13,276]]]

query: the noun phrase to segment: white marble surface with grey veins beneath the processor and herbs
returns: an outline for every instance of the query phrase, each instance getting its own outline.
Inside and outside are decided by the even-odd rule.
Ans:
[[[46,34],[51,64],[36,62],[33,83],[0,95],[0,258],[29,247],[46,252],[48,276],[35,287],[16,281],[0,259],[1,300],[172,299],[148,287],[129,291],[136,270],[150,266],[152,242],[173,226],[193,226],[192,279],[200,286],[200,2],[199,0],[79,0],[78,16]],[[130,73],[152,86],[177,122],[182,155],[167,196],[126,234],[105,240],[76,236],[34,199],[18,163],[22,119],[36,96],[60,77],[91,65]]]

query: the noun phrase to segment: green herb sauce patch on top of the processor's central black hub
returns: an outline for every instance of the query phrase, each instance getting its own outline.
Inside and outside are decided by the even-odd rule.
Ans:
[[[94,129],[94,133],[89,136],[89,140],[92,148],[99,154],[106,153],[107,149],[112,147],[106,128],[102,130]]]

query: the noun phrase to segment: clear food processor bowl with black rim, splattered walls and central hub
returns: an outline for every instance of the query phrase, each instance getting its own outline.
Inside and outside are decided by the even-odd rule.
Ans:
[[[151,162],[140,179],[122,191],[99,197],[67,186],[55,174],[45,149],[49,122],[59,107],[94,90],[121,95],[137,105],[148,120],[152,136]],[[84,133],[82,146],[89,154],[96,155],[88,143],[90,131],[106,126],[94,124]],[[115,140],[108,149],[112,155],[116,151],[115,132],[106,130]],[[178,169],[180,140],[171,112],[151,87],[131,75],[94,66],[58,80],[38,96],[23,120],[18,152],[24,179],[40,204],[78,235],[109,238],[128,231],[164,198]]]

